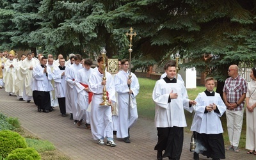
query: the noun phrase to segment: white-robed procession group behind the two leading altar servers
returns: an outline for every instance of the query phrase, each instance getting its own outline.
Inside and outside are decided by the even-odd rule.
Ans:
[[[103,65],[108,63],[108,58],[103,59],[102,56],[98,57],[98,67],[93,69],[93,61],[90,58],[82,58],[80,54],[70,54],[68,61],[65,61],[62,54],[58,55],[56,61],[52,54],[47,54],[47,57],[38,54],[36,58],[34,52],[28,52],[26,55],[22,54],[20,60],[13,60],[12,52],[7,58],[2,55],[3,52],[0,54],[0,76],[3,82],[0,83],[10,96],[17,96],[18,100],[26,100],[28,103],[33,100],[39,113],[50,113],[59,106],[61,116],[70,114],[70,120],[74,120],[72,123],[77,127],[84,123],[99,145],[115,147],[113,135],[116,132],[118,138],[124,138],[125,143],[131,143],[128,134],[138,119],[135,98],[139,93],[140,84],[133,73],[132,79],[129,79],[129,60],[122,61],[124,70],[116,65],[116,72],[111,75],[107,68],[103,69]],[[103,79],[104,75],[106,79]],[[120,76],[115,75],[120,75],[122,81]],[[123,81],[125,77],[127,81]],[[109,106],[100,104],[104,87],[111,104]],[[127,102],[129,97],[131,105]],[[125,115],[127,110],[131,115]]]

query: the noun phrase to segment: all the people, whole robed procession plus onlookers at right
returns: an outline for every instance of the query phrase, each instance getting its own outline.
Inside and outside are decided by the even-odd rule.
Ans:
[[[28,103],[33,100],[40,114],[54,111],[59,106],[61,116],[70,114],[76,127],[84,123],[99,145],[116,147],[115,134],[124,143],[132,142],[130,129],[138,120],[136,96],[140,84],[129,70],[129,60],[118,61],[118,70],[112,75],[106,67],[108,58],[104,56],[97,58],[95,68],[92,68],[90,58],[84,59],[80,54],[70,54],[67,61],[59,54],[54,61],[52,54],[47,57],[38,54],[36,58],[33,52],[28,52],[17,60],[17,54],[12,50],[8,56],[0,52],[0,61],[0,88],[4,88],[8,95]],[[225,159],[225,150],[239,152],[245,99],[246,122],[250,123],[246,127],[246,149],[248,154],[255,154],[256,68],[252,68],[249,84],[239,76],[238,70],[237,65],[228,68],[230,77],[225,81],[222,98],[214,92],[215,79],[207,77],[205,91],[190,100],[182,77],[177,75],[176,62],[170,60],[164,65],[165,73],[156,81],[152,93],[156,104],[158,141],[154,149],[158,160],[164,157],[180,159],[184,127],[187,126],[184,109],[195,112],[191,131],[200,149],[193,152],[193,159],[199,159],[199,154],[214,160]],[[105,95],[107,104],[102,104]],[[227,148],[220,120],[224,113],[230,141]]]

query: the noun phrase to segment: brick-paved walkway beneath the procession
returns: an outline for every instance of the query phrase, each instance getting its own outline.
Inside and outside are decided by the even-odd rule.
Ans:
[[[58,150],[74,160],[79,159],[156,159],[154,145],[157,143],[157,131],[152,120],[139,118],[131,128],[131,143],[124,143],[115,138],[116,147],[100,146],[92,140],[90,130],[84,124],[76,127],[69,116],[60,115],[56,108],[51,113],[38,113],[33,102],[19,101],[15,96],[9,96],[0,90],[0,111],[8,116],[17,117],[22,127],[43,140],[51,141]],[[140,115],[139,115],[140,116]],[[189,152],[191,133],[184,134],[184,145],[180,159],[193,159]],[[202,158],[201,158],[202,157]],[[167,160],[168,158],[164,158]],[[207,159],[200,155],[200,159]],[[226,152],[226,159],[256,159],[256,156],[246,154],[245,150],[239,153]]]

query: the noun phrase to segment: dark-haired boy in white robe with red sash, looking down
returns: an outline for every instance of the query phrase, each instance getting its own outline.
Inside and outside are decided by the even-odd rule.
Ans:
[[[89,79],[92,76],[93,68],[91,68],[92,60],[89,58],[84,60],[84,68],[77,72],[76,89],[77,89],[77,126],[80,126],[82,121],[86,122],[86,129],[90,129],[90,112],[87,111],[92,100],[93,93],[89,90]]]

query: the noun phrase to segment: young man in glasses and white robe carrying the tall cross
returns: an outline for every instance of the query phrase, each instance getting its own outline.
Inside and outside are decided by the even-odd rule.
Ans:
[[[129,129],[138,120],[136,96],[139,93],[140,84],[138,78],[133,73],[131,73],[132,77],[129,79],[129,60],[122,60],[121,65],[122,70],[115,76],[115,89],[118,93],[118,127],[116,138],[124,138],[125,143],[131,143]],[[129,85],[131,85],[131,89],[129,89]]]

